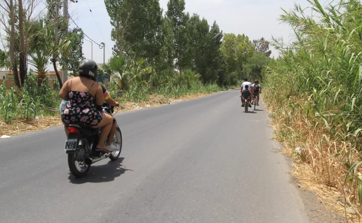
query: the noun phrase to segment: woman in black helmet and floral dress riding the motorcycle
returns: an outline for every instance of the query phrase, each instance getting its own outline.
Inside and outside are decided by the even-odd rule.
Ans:
[[[62,121],[65,124],[77,123],[93,128],[100,127],[96,149],[107,152],[118,151],[119,148],[112,144],[116,131],[115,118],[97,110],[97,106],[102,106],[104,102],[104,88],[96,82],[97,68],[98,66],[93,60],[83,60],[78,69],[79,77],[64,83],[59,96],[68,103],[62,113]],[[108,101],[110,100],[108,99]],[[113,105],[117,105],[117,103],[114,102]],[[104,145],[106,138],[107,142]]]

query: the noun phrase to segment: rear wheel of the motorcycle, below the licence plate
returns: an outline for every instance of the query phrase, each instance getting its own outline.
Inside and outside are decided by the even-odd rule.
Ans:
[[[77,177],[86,176],[90,169],[90,165],[86,163],[86,154],[90,150],[89,143],[86,139],[81,139],[82,143],[78,145],[77,150],[74,153],[68,154],[68,166],[71,173]]]

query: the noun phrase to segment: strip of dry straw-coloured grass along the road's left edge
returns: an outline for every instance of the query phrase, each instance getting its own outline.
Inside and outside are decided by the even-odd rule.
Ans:
[[[125,112],[125,111],[137,110],[136,108],[142,109],[142,108],[158,107],[162,105],[169,105],[176,102],[203,97],[206,95],[209,94],[206,93],[194,94],[194,95],[183,96],[178,99],[169,99],[163,95],[151,95],[149,97],[148,102],[122,103],[120,104],[119,108],[115,108],[115,112]],[[136,106],[136,108],[134,106]],[[40,117],[39,119],[32,119],[32,120],[26,120],[25,118],[23,118],[23,119],[14,120],[11,124],[6,124],[4,120],[0,119],[0,136],[2,135],[14,136],[19,134],[24,134],[30,131],[45,130],[49,127],[60,126],[60,125],[63,125],[60,116]]]

